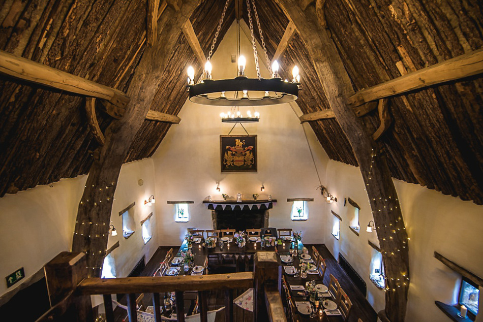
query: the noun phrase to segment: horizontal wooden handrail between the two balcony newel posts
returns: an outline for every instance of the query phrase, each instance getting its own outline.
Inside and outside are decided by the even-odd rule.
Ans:
[[[86,278],[77,285],[80,294],[162,293],[250,288],[253,272],[200,276]]]

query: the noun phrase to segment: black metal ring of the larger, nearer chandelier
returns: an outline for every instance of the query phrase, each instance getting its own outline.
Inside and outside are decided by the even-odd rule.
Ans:
[[[290,103],[298,98],[299,83],[282,81],[280,78],[247,78],[238,76],[234,79],[205,79],[196,85],[187,85],[190,101],[197,104],[215,106],[261,106]],[[222,92],[260,91],[262,97],[250,98],[248,95],[238,95],[228,98]],[[273,92],[274,94],[266,94]],[[208,94],[220,93],[218,96]]]

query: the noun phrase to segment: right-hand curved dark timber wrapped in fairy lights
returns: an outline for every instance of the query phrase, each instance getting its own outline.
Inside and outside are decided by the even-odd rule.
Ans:
[[[316,9],[309,6],[303,11],[296,0],[276,2],[308,49],[330,108],[354,150],[366,184],[387,276],[386,306],[379,316],[392,322],[403,321],[409,288],[408,238],[385,156],[379,153],[377,144],[344,100],[344,95],[352,91],[350,79],[334,43],[317,21]]]

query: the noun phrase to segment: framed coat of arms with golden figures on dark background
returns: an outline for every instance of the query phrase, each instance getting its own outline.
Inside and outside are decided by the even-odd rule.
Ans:
[[[256,135],[220,135],[221,172],[257,172]]]

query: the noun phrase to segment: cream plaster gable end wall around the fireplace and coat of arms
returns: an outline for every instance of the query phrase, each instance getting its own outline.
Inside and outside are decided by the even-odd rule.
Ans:
[[[235,25],[232,25],[212,58],[214,79],[236,76],[236,64],[231,62],[231,54],[236,53],[235,31]],[[247,58],[247,76],[255,77],[251,44],[243,32],[241,53]],[[259,61],[263,60],[263,57],[259,58]],[[266,68],[262,65],[261,69],[262,76],[267,77]],[[269,211],[270,226],[301,230],[305,233],[305,242],[320,242],[320,226],[324,218],[323,201],[316,190],[320,183],[304,128],[296,114],[301,112],[296,104],[293,106],[296,112],[289,104],[258,107],[260,121],[244,124],[249,134],[258,136],[256,173],[221,173],[220,135],[227,135],[233,124],[222,123],[219,115],[229,108],[202,106],[187,100],[178,115],[182,121],[171,126],[154,155],[156,191],[160,201],[156,203],[156,209],[163,218],[158,221],[161,245],[180,244],[189,227],[211,229],[211,211],[202,201],[207,200],[208,195],[213,200],[222,200],[223,193],[236,199],[238,192],[243,199],[250,200],[255,193],[260,194],[259,199],[271,195],[278,203]],[[246,108],[240,108],[240,112],[246,114]],[[323,180],[322,169],[328,158],[310,126],[305,126]],[[245,131],[237,124],[231,134],[245,134]],[[220,192],[216,190],[216,182],[220,182]],[[262,184],[264,192],[260,191]],[[292,203],[288,203],[287,198],[297,197],[315,199],[309,202],[308,221],[290,220]],[[189,206],[190,221],[175,222],[174,205],[168,205],[167,201],[194,201]]]

